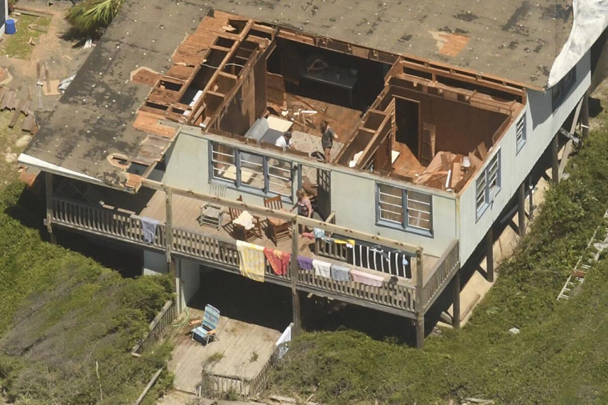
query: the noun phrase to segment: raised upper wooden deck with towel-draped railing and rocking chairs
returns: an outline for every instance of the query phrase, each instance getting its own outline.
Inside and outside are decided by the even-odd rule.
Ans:
[[[164,223],[164,192],[147,195],[148,200],[143,202],[140,201],[143,194],[134,196],[134,199],[130,201],[130,209],[133,211],[118,208],[116,205],[112,207],[111,199],[107,199],[102,207],[54,197],[51,200],[50,217],[55,225],[130,242],[159,253],[166,252],[170,247],[172,256],[195,260],[214,269],[239,274],[240,258],[235,239],[230,234],[229,224],[224,223],[219,230],[210,226],[200,226],[196,222],[199,214],[199,200],[174,194],[173,225],[167,226]],[[136,203],[136,201],[139,202]],[[139,208],[137,208],[138,206]],[[142,216],[160,221],[156,226],[156,234],[151,243],[144,240]],[[228,222],[229,219],[225,221]],[[171,241],[170,244],[169,241]],[[314,248],[313,242],[313,240],[300,237],[298,254],[317,257],[311,250]],[[267,237],[257,239],[254,243],[274,247]],[[278,249],[291,252],[291,240],[280,243]],[[336,257],[331,257],[333,259],[319,256],[319,259],[344,264],[344,259],[335,260]],[[353,266],[348,265],[348,267]],[[412,319],[415,317],[416,308],[420,308],[416,303],[416,272],[412,272],[412,279],[397,276],[396,281],[390,282],[390,274],[360,267],[354,268],[382,275],[384,281],[381,285],[368,285],[352,280],[342,282],[303,268],[297,268],[296,274],[292,274],[292,270],[289,269],[288,274],[278,275],[272,271],[269,265],[266,266],[265,279],[266,282],[283,287],[290,287],[292,282],[295,282],[295,288],[306,293],[338,299]],[[434,301],[458,268],[457,240],[451,243],[441,259],[426,254],[423,256],[422,308],[427,308],[426,304]]]

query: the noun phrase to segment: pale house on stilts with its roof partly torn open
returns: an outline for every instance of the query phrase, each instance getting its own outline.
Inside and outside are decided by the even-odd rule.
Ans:
[[[49,232],[139,250],[180,309],[201,268],[283,251],[253,278],[291,289],[295,328],[314,294],[410,319],[419,347],[444,291],[458,327],[461,267],[514,204],[523,231],[542,155],[557,181],[586,132],[608,22],[586,0],[142,4],[19,157],[44,172]]]

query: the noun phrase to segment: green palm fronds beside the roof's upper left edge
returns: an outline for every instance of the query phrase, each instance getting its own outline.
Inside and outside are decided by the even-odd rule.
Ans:
[[[116,17],[123,2],[124,0],[84,0],[67,10],[66,19],[77,35],[95,38]]]

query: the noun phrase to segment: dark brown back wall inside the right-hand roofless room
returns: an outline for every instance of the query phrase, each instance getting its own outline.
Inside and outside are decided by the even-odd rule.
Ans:
[[[421,121],[437,128],[435,152],[449,151],[468,155],[482,142],[486,148],[492,145],[492,135],[505,120],[506,115],[486,111],[458,101],[415,92],[393,86],[391,94],[420,101]],[[397,118],[399,121],[399,118]],[[418,137],[418,134],[412,136]],[[418,151],[412,151],[418,154]]]

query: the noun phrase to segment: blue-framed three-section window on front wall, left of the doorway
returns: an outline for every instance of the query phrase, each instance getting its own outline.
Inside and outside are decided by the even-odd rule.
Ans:
[[[212,143],[211,177],[233,183],[237,188],[263,194],[278,194],[291,200],[291,162],[240,151]]]

